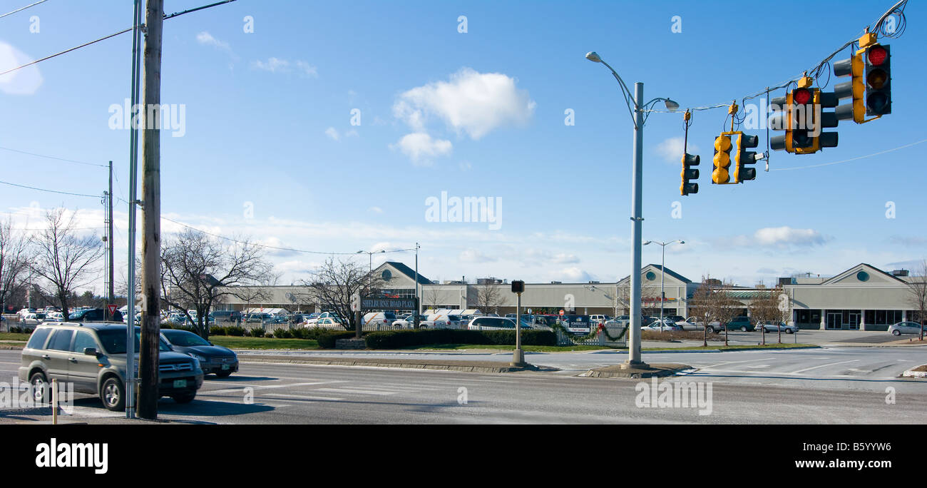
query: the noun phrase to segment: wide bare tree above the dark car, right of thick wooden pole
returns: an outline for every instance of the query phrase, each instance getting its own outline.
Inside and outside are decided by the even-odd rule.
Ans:
[[[183,310],[204,339],[210,335],[213,303],[238,296],[240,287],[235,285],[258,284],[272,273],[261,248],[246,238],[225,241],[185,229],[161,246],[161,296]],[[196,309],[196,318],[189,307]]]

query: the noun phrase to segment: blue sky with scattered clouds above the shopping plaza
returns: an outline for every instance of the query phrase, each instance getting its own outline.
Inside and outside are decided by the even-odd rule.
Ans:
[[[645,83],[647,99],[716,105],[799,76],[892,3],[239,0],[170,19],[161,101],[183,105],[185,117],[183,136],[161,137],[162,212],[223,236],[301,250],[394,250],[418,241],[420,272],[432,279],[615,280],[630,268],[632,127],[616,81],[585,53],[597,51],[627,83]],[[3,0],[0,10],[20,4]],[[198,5],[168,0],[165,9]],[[818,12],[828,13],[826,23]],[[921,260],[927,143],[783,170],[927,138],[916,119],[927,75],[924,13],[912,2],[907,32],[884,41],[893,55],[891,115],[841,123],[839,146],[815,155],[774,151],[772,171],[760,162],[755,181],[710,185],[711,145],[727,112],[698,111],[689,142],[703,159],[700,190],[679,196],[681,113],[654,113],[644,133],[643,238],[686,241],[667,247],[667,267],[749,286],[860,262],[891,269]],[[30,31],[33,16],[39,32]],[[245,32],[246,16],[254,32]],[[671,32],[674,16],[681,32]],[[131,18],[130,2],[50,0],[0,19],[0,69],[119,31]],[[847,57],[844,50],[834,60]],[[130,68],[131,37],[122,34],[0,78],[0,148],[112,160],[115,193],[127,198],[129,135],[109,127],[108,110],[129,96]],[[842,81],[831,76],[825,89]],[[351,124],[355,109],[360,125]],[[574,125],[565,124],[567,109]],[[764,150],[765,131],[753,133]],[[106,189],[103,168],[7,150],[0,180]],[[442,191],[502,199],[500,228],[426,222],[425,200]],[[41,210],[62,205],[77,210],[83,226],[102,227],[97,199],[0,185],[0,212],[19,226],[35,228]],[[121,204],[116,215],[123,266],[125,210]],[[325,257],[268,252],[286,283]],[[409,252],[382,256],[375,264],[388,256],[413,265]],[[644,247],[643,261],[659,263],[659,247]]]

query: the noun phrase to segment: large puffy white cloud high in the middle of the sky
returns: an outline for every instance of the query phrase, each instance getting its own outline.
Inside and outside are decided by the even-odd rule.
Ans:
[[[449,82],[428,83],[401,94],[393,115],[416,132],[424,130],[428,116],[437,116],[458,134],[476,140],[498,127],[527,123],[536,105],[527,90],[515,88],[514,78],[463,68]]]

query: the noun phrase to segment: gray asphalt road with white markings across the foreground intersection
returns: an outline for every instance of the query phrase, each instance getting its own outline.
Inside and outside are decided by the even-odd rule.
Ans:
[[[496,354],[479,354],[487,355]],[[711,399],[708,415],[699,414],[708,413],[707,403],[638,405],[639,384],[651,388],[651,381],[571,376],[625,359],[613,352],[528,354],[536,364],[567,368],[556,374],[246,363],[228,379],[207,377],[189,405],[162,399],[159,417],[244,424],[924,423],[927,382],[895,375],[927,363],[925,356],[922,348],[644,354],[649,362],[701,367],[658,383],[701,388],[702,399]],[[0,351],[0,378],[13,379],[18,365],[19,352]],[[889,396],[894,404],[886,402]],[[85,395],[75,401],[75,413],[121,417]]]

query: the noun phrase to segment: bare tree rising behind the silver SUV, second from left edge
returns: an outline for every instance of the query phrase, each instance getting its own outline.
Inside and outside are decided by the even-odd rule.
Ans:
[[[95,235],[78,237],[75,216],[67,220],[65,209],[45,212],[45,228],[30,238],[35,250],[32,273],[47,282],[50,294],[61,304],[61,313],[68,320],[70,294],[93,281],[99,271],[96,263],[103,258],[103,243]]]

